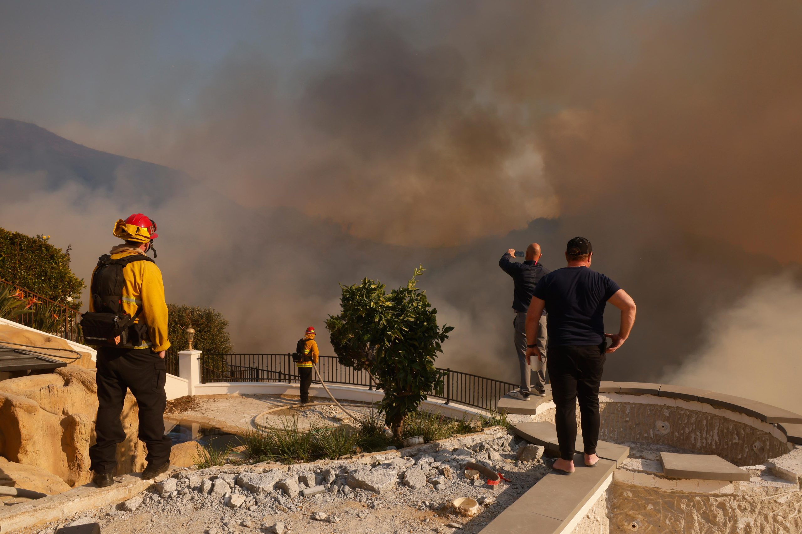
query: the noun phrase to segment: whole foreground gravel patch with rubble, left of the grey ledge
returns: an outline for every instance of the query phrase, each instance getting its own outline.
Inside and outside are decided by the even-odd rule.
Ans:
[[[63,524],[94,520],[104,534],[165,530],[171,534],[448,534],[458,528],[460,532],[479,532],[547,472],[541,450],[534,451],[537,454],[530,462],[517,460],[516,452],[524,452],[519,444],[512,436],[488,436],[468,448],[417,456],[375,456],[368,460],[372,464],[338,460],[289,468],[187,470],[131,501],[81,514]],[[464,477],[468,461],[492,466],[511,481],[492,487],[484,478],[468,480]],[[278,484],[273,486],[275,481]],[[299,490],[302,494],[296,495]],[[303,496],[304,492],[319,493]],[[456,497],[478,500],[482,504],[479,514],[472,518],[458,515],[450,507]],[[59,526],[40,525],[23,532],[52,534]]]

